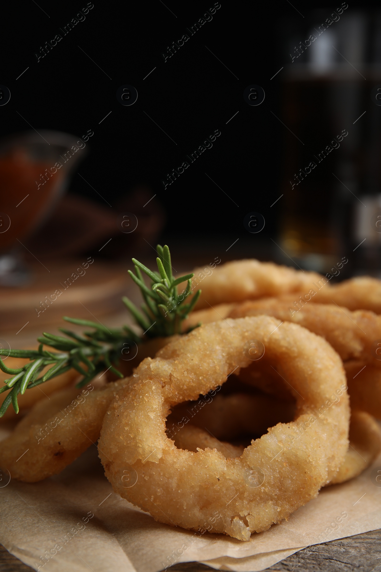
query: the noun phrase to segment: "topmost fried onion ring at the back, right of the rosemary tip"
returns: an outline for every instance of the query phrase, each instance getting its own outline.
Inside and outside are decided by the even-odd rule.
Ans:
[[[290,292],[308,292],[313,283],[322,280],[315,272],[303,272],[288,266],[259,260],[234,260],[221,267],[196,268],[192,288],[201,288],[196,308],[210,305],[255,300]],[[330,286],[327,279],[324,288]]]

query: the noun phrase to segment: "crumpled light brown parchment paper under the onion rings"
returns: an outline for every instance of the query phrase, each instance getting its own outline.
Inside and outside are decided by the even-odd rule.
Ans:
[[[301,547],[381,528],[377,475],[381,455],[358,478],[323,488],[288,522],[240,542],[155,522],[113,492],[91,446],[61,474],[39,483],[8,482],[2,472],[0,542],[35,570],[49,572],[158,572],[189,561],[254,572]]]

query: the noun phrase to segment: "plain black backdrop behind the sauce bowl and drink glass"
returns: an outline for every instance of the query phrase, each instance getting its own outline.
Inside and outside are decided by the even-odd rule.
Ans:
[[[349,4],[342,18],[359,8],[375,13],[377,6]],[[204,240],[218,241],[226,252],[239,238],[226,256],[276,258],[271,239],[277,241],[288,200],[284,180],[290,178],[287,137],[291,136],[280,122],[288,119],[282,72],[271,78],[290,63],[290,38],[305,39],[312,11],[321,10],[325,19],[341,2],[222,0],[212,20],[164,62],[167,46],[187,33],[186,27],[214,2],[94,0],[85,21],[37,62],[41,46],[55,34],[63,35],[59,28],[86,5],[41,0],[38,5],[12,3],[3,9],[0,83],[9,87],[11,100],[0,108],[1,135],[29,129],[28,123],[37,130],[78,137],[93,130],[91,152],[78,166],[89,184],[74,174],[70,193],[107,209],[109,203],[118,211],[121,198],[145,186],[151,196],[156,194],[153,204],[166,213],[160,240],[175,246],[184,241],[189,248],[191,244],[199,248]],[[122,106],[115,97],[123,84],[138,91],[133,106]],[[243,90],[250,84],[264,89],[262,105],[249,106],[243,100]],[[305,105],[308,138],[303,157],[319,147],[316,133],[322,124],[308,96]],[[366,109],[372,105],[369,97],[364,105]],[[221,135],[212,149],[164,189],[167,173],[216,129]],[[319,205],[319,197],[302,205],[298,216],[314,204]],[[243,226],[251,211],[266,220],[258,235],[249,235]],[[102,254],[111,252],[106,249]]]

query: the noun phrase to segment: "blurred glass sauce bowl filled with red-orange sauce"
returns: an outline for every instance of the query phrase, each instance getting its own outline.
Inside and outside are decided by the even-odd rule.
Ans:
[[[79,137],[57,131],[28,131],[0,140],[0,285],[28,280],[18,251],[49,217],[86,153]]]

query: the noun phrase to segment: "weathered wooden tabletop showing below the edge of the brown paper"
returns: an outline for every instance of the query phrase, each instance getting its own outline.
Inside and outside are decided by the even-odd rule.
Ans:
[[[311,551],[311,554],[309,554]],[[209,566],[196,562],[186,562],[171,566],[172,572],[206,572]],[[1,572],[33,572],[18,558],[0,545]],[[381,571],[381,530],[340,538],[332,542],[299,550],[288,558],[266,570],[287,572],[380,572]],[[110,570],[110,572],[113,572]]]

